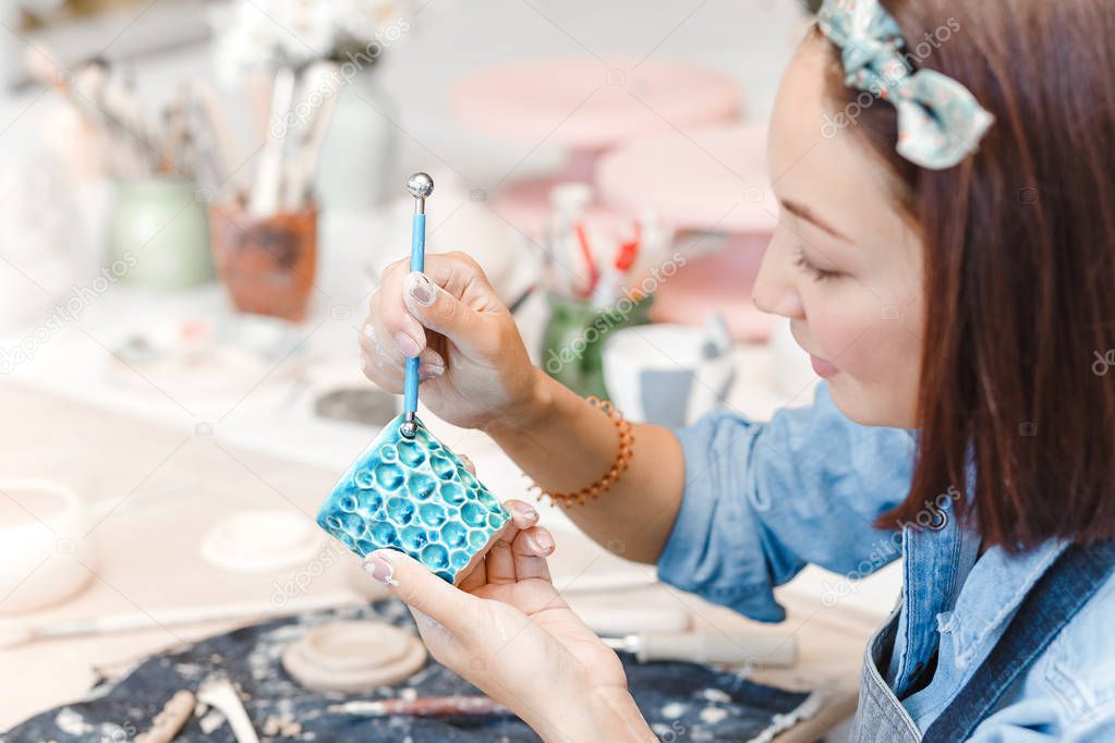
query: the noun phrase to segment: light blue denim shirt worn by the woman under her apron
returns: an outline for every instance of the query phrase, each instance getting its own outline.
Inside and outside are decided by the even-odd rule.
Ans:
[[[824,384],[812,407],[782,411],[769,423],[717,411],[677,436],[685,496],[659,577],[754,619],[778,622],[785,612],[773,588],[806,564],[854,580],[901,556],[902,600],[886,681],[923,732],[1065,547],[1049,541],[1017,556],[993,547],[977,560],[979,535],[952,517],[953,495],[963,488],[941,493],[898,531],[874,528],[875,518],[909,491],[913,434],[853,423]],[[841,595],[835,590],[823,603],[838,610]],[[1113,617],[1115,579],[972,740],[1115,742]],[[919,684],[938,643],[937,667],[928,684]]]

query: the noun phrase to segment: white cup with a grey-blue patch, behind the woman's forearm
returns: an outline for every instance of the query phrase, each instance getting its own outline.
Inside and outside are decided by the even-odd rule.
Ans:
[[[619,331],[603,351],[608,393],[636,422],[680,427],[721,403],[735,380],[729,350],[708,352],[692,325],[643,325]]]

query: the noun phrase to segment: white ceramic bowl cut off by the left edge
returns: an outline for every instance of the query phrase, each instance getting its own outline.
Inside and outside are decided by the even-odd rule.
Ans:
[[[74,490],[38,479],[0,480],[0,614],[30,612],[89,585],[90,509]]]

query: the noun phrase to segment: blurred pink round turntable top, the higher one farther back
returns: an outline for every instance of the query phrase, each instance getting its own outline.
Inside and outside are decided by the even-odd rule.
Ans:
[[[634,136],[739,116],[739,85],[687,62],[591,57],[539,59],[474,72],[457,84],[462,123],[516,141],[599,150]]]

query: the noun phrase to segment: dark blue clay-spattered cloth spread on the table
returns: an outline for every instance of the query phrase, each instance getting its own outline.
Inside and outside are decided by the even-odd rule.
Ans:
[[[263,741],[367,741],[434,743],[440,741],[537,741],[515,717],[503,718],[366,718],[329,712],[331,704],[382,700],[401,694],[440,696],[479,694],[468,682],[430,659],[425,668],[396,687],[361,695],[308,692],[283,669],[285,647],[307,628],[334,619],[379,618],[414,626],[406,607],[386,599],[365,607],[319,612],[237,629],[198,642],[180,653],[145,661],[116,683],[97,685],[78,704],[52,710],[0,734],[2,743],[130,741],[178,690],[196,692],[210,675],[236,684]],[[417,632],[417,630],[415,630]],[[691,663],[640,664],[620,653],[631,693],[647,721],[663,741],[765,740],[772,724],[784,721],[808,697],[748,682]],[[414,690],[413,692],[404,690]],[[210,734],[203,723],[220,724]],[[277,732],[278,731],[278,732]],[[271,733],[271,734],[268,734]],[[234,743],[223,721],[193,716],[176,741]]]

